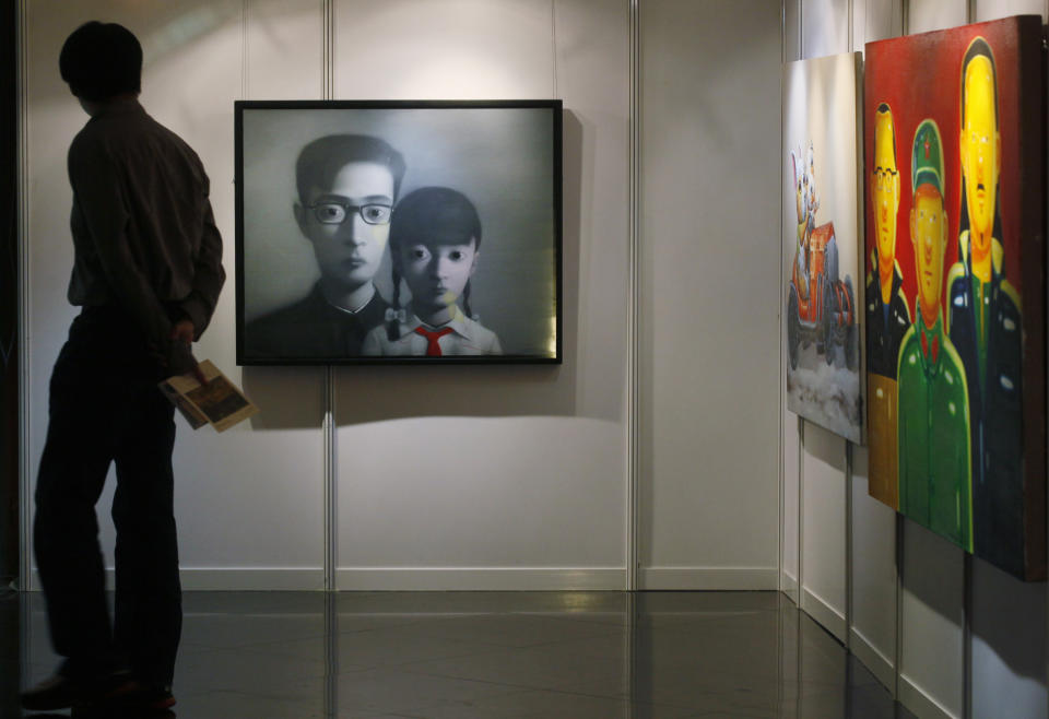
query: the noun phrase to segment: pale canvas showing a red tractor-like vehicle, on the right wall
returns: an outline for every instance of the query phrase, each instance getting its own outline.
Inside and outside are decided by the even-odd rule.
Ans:
[[[862,444],[860,54],[783,69],[787,406]]]

